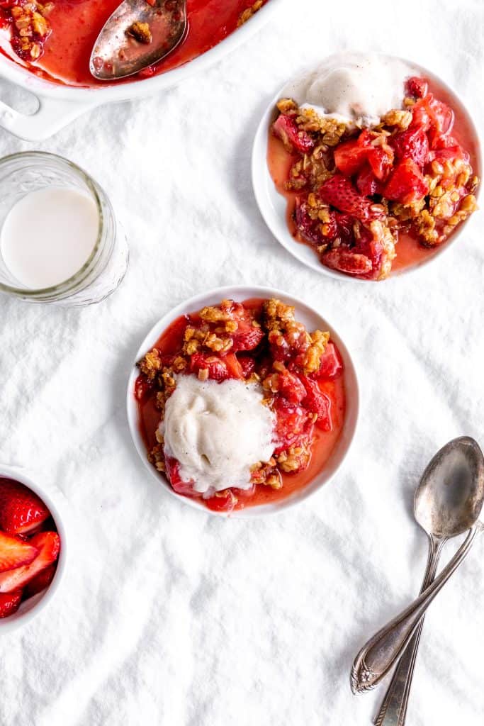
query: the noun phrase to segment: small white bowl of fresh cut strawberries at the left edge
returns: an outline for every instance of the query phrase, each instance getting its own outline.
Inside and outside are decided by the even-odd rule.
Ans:
[[[0,632],[26,625],[59,590],[67,556],[62,495],[0,465]]]

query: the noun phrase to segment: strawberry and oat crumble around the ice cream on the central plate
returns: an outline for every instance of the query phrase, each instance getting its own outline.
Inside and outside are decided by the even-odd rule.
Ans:
[[[177,330],[176,353],[155,347],[139,361],[137,398],[153,399],[161,420],[178,375],[261,386],[263,405],[276,414],[274,453],[267,462],[254,462],[251,481],[253,489],[281,489],[283,475],[308,466],[314,427],[332,430],[331,400],[321,388],[342,374],[343,364],[329,333],[309,333],[295,319],[294,308],[276,299],[252,305],[223,300],[186,316]],[[194,495],[181,481],[178,462],[165,457],[158,431],[148,459],[167,474],[173,489]],[[228,486],[213,495],[213,508],[233,508],[240,495]]]

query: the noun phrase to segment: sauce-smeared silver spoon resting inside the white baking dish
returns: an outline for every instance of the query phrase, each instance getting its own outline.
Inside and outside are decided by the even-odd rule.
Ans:
[[[186,0],[124,0],[102,28],[89,60],[99,81],[116,81],[157,63],[186,35]]]

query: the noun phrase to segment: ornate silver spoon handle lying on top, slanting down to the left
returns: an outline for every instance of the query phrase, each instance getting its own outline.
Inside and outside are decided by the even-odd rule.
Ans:
[[[385,677],[408,645],[420,619],[435,595],[464,560],[478,531],[480,531],[480,526],[473,526],[469,530],[465,542],[430,587],[361,648],[351,670],[350,682],[353,693],[371,690]]]

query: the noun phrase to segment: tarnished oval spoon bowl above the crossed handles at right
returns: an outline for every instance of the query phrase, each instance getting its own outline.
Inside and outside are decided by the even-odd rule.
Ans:
[[[464,534],[484,501],[484,460],[469,436],[449,441],[427,465],[414,499],[419,525],[429,535],[448,539]]]

